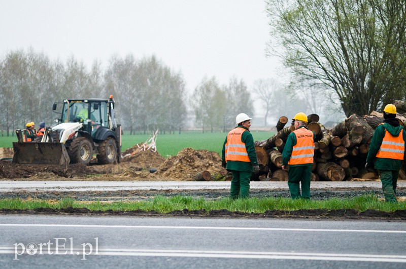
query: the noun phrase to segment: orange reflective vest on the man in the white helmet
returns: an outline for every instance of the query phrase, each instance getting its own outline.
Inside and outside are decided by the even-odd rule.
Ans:
[[[237,127],[231,130],[227,135],[225,143],[225,161],[251,162],[248,157],[245,143],[241,140],[243,133],[247,131],[244,128]]]

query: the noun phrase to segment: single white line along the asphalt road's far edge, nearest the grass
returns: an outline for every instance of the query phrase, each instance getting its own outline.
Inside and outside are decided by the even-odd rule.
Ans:
[[[143,225],[86,225],[86,224],[29,224],[0,223],[1,226],[20,227],[83,227],[83,228],[145,228],[145,229],[213,229],[213,230],[283,230],[289,232],[344,232],[344,233],[387,233],[406,234],[406,230],[359,230],[359,229],[305,229],[305,228],[262,228],[262,227],[211,227],[211,226],[143,226]]]

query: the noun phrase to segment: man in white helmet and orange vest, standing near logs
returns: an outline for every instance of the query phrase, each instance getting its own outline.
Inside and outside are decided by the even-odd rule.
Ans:
[[[251,118],[240,113],[235,118],[238,125],[224,141],[222,166],[232,173],[230,198],[248,198],[252,172],[259,172],[255,145],[250,133]]]

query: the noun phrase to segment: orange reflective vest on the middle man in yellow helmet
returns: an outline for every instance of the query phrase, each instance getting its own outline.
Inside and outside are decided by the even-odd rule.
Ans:
[[[313,132],[306,128],[294,130],[296,145],[292,148],[289,165],[313,164],[314,136]]]

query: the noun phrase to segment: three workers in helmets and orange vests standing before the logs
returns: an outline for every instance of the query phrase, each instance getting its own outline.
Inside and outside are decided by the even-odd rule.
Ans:
[[[396,107],[384,108],[384,121],[371,140],[365,168],[375,167],[382,182],[385,201],[396,203],[396,185],[404,160],[406,132],[396,118]],[[245,113],[236,116],[237,127],[228,132],[222,149],[222,166],[232,173],[230,198],[248,198],[252,173],[260,171],[250,133],[251,118]],[[293,118],[294,130],[288,135],[282,152],[282,169],[288,171],[290,196],[310,199],[310,182],[316,135],[307,128],[308,117],[299,112]],[[300,191],[301,185],[301,191]]]

